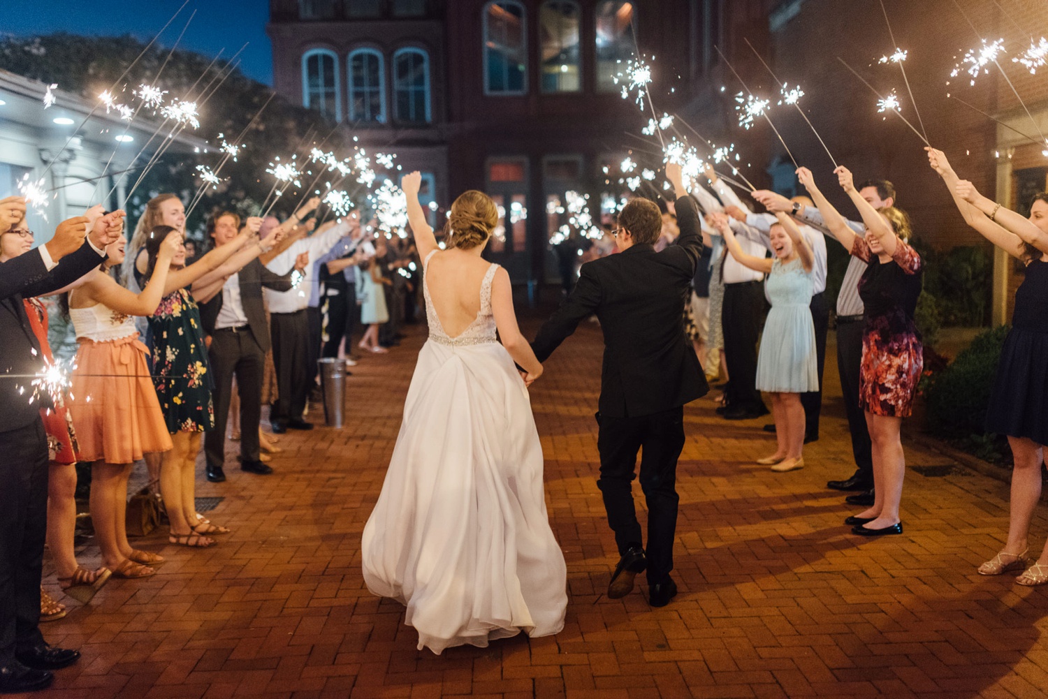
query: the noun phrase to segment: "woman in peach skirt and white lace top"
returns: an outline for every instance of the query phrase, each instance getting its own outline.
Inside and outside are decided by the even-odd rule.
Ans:
[[[124,261],[122,237],[106,248],[103,272]],[[172,233],[161,255],[171,260],[181,245]],[[158,274],[167,276],[168,266]],[[162,281],[162,280],[161,280]],[[80,456],[92,463],[91,521],[105,566],[117,577],[147,577],[151,565],[163,562],[155,553],[128,543],[127,486],[131,466],[147,452],[171,449],[156,390],[138,340],[135,315],[149,315],[160,303],[163,284],[141,293],[117,284],[108,274],[96,274],[69,292],[69,316],[80,347],[71,376],[69,412]]]

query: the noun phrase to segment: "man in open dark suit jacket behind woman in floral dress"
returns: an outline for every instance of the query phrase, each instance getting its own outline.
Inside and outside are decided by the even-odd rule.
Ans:
[[[248,219],[246,225],[258,231],[261,223],[260,219]],[[208,219],[208,235],[215,239],[216,245],[224,245],[237,237],[239,226],[239,216],[217,212]],[[274,274],[256,258],[232,275],[213,299],[200,305],[200,321],[211,336],[208,358],[215,374],[212,392],[215,428],[203,439],[206,476],[212,483],[225,480],[225,425],[234,374],[240,395],[240,468],[259,475],[272,473],[259,459],[262,375],[265,354],[269,351],[269,323],[262,303],[262,287],[287,291],[291,288],[291,274]]]

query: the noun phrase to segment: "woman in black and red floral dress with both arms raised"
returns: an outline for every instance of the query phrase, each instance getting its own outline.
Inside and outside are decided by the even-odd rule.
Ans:
[[[866,308],[859,405],[873,441],[874,503],[845,524],[865,537],[900,534],[899,501],[907,468],[900,431],[902,418],[912,411],[923,369],[923,347],[914,324],[923,265],[907,242],[911,233],[907,215],[894,206],[875,210],[859,196],[847,168],[833,172],[863,216],[865,238],[848,227],[807,168],[798,170],[798,177],[833,237],[868,265],[858,284]]]

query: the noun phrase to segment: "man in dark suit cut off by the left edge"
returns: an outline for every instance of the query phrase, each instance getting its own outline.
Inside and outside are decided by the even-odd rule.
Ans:
[[[0,694],[31,692],[51,683],[51,670],[80,658],[51,648],[40,622],[40,575],[47,529],[47,435],[32,376],[43,369],[24,297],[68,286],[105,260],[122,230],[124,212],[99,219],[85,241],[88,219],[59,224],[40,247],[0,263]],[[0,233],[25,216],[25,199],[0,201]],[[31,398],[31,401],[30,401]]]

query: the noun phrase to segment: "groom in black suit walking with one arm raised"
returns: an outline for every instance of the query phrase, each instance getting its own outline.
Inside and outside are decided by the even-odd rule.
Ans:
[[[665,174],[677,194],[676,244],[656,253],[662,230],[659,207],[648,199],[627,203],[614,232],[621,254],[584,264],[574,291],[531,343],[545,362],[583,319],[596,313],[601,322],[605,349],[596,414],[597,487],[621,556],[608,596],[625,597],[636,574],[647,569],[652,607],[664,607],[677,594],[670,571],[683,406],[708,390],[683,331],[684,299],[702,253],[698,209],[684,190],[680,166],[668,165]],[[638,451],[640,487],[648,501],[647,556],[631,488]]]

